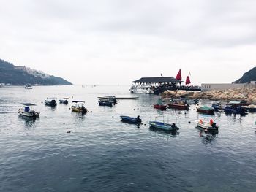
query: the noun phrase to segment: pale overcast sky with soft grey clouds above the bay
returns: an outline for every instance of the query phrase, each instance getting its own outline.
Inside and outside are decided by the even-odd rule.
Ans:
[[[229,83],[256,66],[255,0],[0,0],[0,58],[78,85],[189,72]]]

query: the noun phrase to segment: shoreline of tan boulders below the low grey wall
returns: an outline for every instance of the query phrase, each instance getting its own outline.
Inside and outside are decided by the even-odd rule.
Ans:
[[[165,91],[163,97],[187,98],[187,99],[209,99],[212,101],[244,101],[247,104],[256,104],[256,89],[237,88],[225,91]]]

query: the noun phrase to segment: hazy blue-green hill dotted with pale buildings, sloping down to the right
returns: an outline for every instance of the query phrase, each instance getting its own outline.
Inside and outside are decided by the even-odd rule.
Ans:
[[[72,85],[71,82],[54,77],[26,66],[15,66],[0,59],[0,83],[10,85]]]

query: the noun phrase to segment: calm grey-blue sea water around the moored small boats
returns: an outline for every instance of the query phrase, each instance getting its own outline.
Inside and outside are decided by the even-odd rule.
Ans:
[[[138,99],[99,106],[105,95]],[[48,107],[48,97],[69,104]],[[194,104],[159,111],[158,99],[130,94],[129,85],[0,88],[0,191],[256,191],[256,114],[201,115]],[[74,100],[89,112],[71,112]],[[18,115],[25,102],[37,104],[37,120]],[[140,115],[143,124],[120,115]],[[211,118],[217,134],[196,128],[195,120]],[[150,120],[179,130],[152,129]]]

